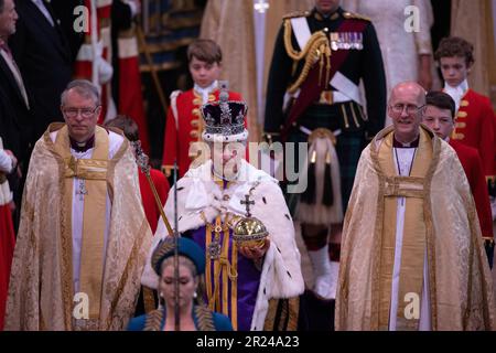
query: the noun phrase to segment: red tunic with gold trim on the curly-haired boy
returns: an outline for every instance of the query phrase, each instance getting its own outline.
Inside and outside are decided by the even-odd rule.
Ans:
[[[467,89],[460,101],[453,140],[478,151],[486,179],[495,174],[495,117],[489,98]]]

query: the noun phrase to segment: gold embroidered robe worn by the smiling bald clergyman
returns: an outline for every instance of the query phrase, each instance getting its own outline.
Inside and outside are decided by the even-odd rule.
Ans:
[[[421,127],[417,158],[423,167],[414,162],[411,178],[397,176],[388,165],[391,138],[392,127],[380,131],[358,163],[343,229],[336,329],[388,329],[395,256],[395,232],[388,229],[395,229],[396,201],[405,196],[399,309],[408,306],[401,295],[423,279],[420,249],[427,252],[432,330],[493,330],[490,272],[474,201],[455,152]],[[416,222],[408,226],[411,217]],[[400,314],[398,310],[399,329],[418,328],[418,318],[411,321]]]

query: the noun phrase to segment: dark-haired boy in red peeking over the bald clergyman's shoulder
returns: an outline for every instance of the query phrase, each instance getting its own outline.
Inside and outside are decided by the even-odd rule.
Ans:
[[[450,136],[455,127],[455,103],[445,93],[430,92],[425,97],[425,114],[423,124],[429,126],[440,138],[450,143],[459,156],[465,171],[472,195],[477,210],[481,231],[486,247],[489,266],[493,267],[493,220],[490,216],[489,197],[484,178],[479,154],[475,148],[453,140]]]

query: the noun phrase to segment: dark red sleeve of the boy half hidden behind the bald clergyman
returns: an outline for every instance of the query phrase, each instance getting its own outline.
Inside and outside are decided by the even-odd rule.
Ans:
[[[484,176],[483,164],[478,152],[474,150],[471,154],[471,189],[477,208],[481,231],[484,237],[493,237],[493,217],[490,214],[489,195],[487,193],[486,178]]]

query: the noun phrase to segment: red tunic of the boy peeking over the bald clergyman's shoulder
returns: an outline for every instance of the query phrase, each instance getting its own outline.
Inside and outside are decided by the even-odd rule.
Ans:
[[[468,179],[475,207],[477,208],[482,235],[483,237],[493,238],[489,196],[487,194],[487,184],[478,152],[475,148],[465,146],[460,141],[450,140],[450,146],[453,147],[459,156],[460,162],[462,162],[463,170]]]

